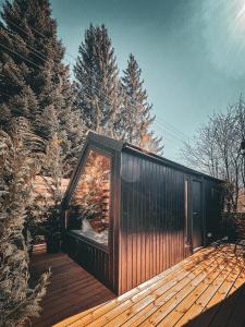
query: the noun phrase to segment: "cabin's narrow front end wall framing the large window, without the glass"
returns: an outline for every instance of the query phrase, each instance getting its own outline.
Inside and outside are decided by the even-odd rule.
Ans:
[[[110,198],[110,226],[109,226],[109,244],[105,250],[95,242],[87,241],[69,232],[64,232],[64,249],[69,255],[76,261],[82,267],[96,276],[101,282],[108,286],[114,293],[118,293],[119,284],[119,208],[120,208],[120,153],[112,150],[101,144],[89,142],[89,148],[99,149],[111,155],[111,198]],[[86,154],[87,148],[84,149]],[[73,184],[66,194],[66,203],[63,204],[64,211],[75,190],[76,181],[84,165],[85,156],[82,156],[77,171],[73,177]]]

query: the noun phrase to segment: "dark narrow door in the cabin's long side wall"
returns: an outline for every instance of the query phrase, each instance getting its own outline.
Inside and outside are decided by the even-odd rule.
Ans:
[[[192,243],[193,250],[203,246],[201,182],[192,182]]]

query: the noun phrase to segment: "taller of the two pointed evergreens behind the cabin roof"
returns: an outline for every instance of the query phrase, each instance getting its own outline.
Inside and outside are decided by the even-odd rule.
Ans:
[[[105,25],[85,33],[74,66],[77,107],[87,129],[112,137],[122,136],[120,114],[122,95],[114,49]]]

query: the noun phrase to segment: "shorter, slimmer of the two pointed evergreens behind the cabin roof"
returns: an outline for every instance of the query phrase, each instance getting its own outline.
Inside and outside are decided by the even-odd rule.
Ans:
[[[144,89],[142,70],[133,55],[130,55],[127,68],[123,71],[122,87],[124,90],[124,120],[125,138],[146,150],[161,154],[161,138],[150,131],[155,117],[151,116],[152,106],[147,101],[147,93]]]

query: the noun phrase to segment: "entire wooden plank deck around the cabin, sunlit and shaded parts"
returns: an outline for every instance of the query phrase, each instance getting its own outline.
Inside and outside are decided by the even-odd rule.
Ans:
[[[245,326],[244,263],[243,246],[210,246],[115,298],[66,255],[39,254],[36,274],[53,275],[34,326]]]

